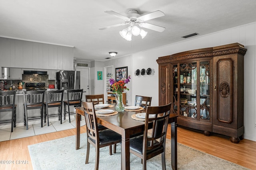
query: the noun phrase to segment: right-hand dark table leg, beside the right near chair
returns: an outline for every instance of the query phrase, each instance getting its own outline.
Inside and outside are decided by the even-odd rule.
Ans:
[[[171,123],[171,160],[173,170],[177,170],[177,126],[177,117],[175,117],[174,122]]]

